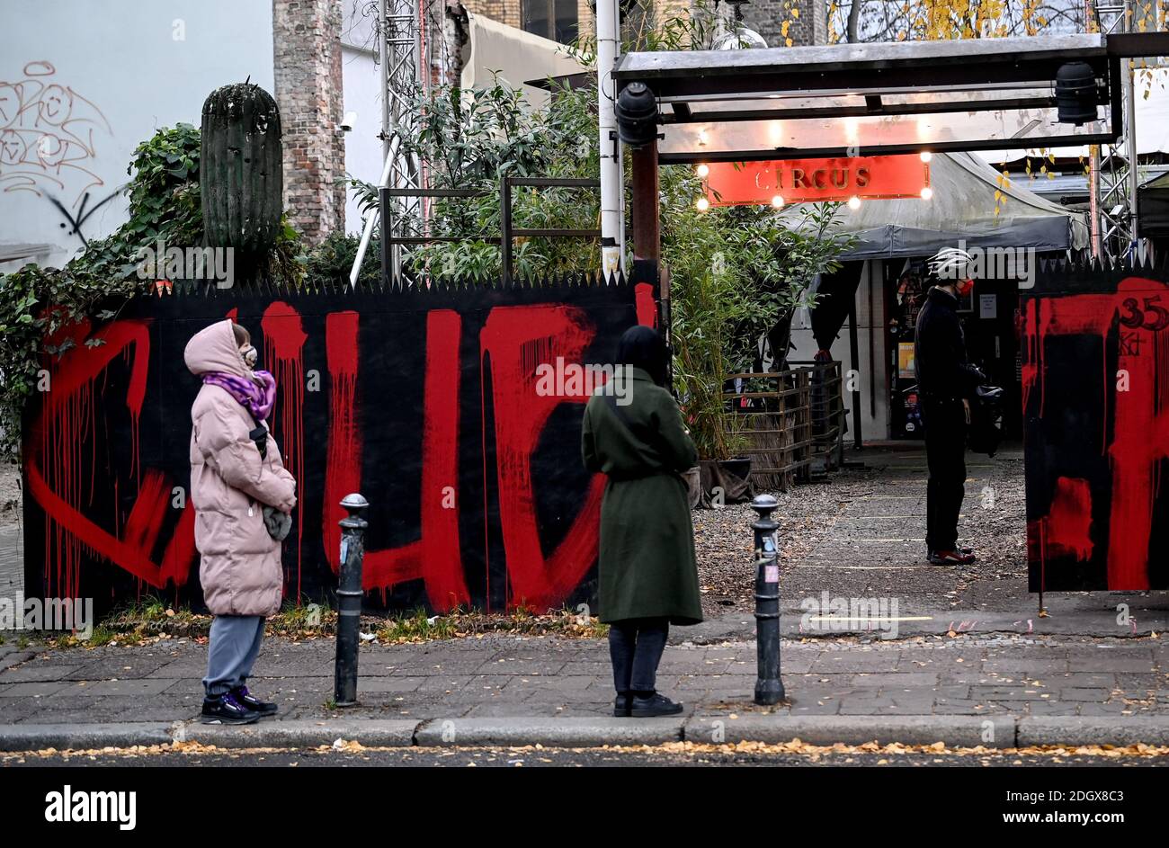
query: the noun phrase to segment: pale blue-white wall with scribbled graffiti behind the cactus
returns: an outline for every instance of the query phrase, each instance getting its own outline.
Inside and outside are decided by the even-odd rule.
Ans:
[[[129,179],[133,149],[155,129],[199,126],[214,89],[251,76],[271,94],[270,0],[16,0],[0,25],[0,255],[47,244],[61,264],[82,246],[67,214]],[[122,197],[81,225],[108,235]],[[22,261],[0,264],[11,269]]]

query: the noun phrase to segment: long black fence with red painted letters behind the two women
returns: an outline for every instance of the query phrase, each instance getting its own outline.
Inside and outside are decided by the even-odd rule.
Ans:
[[[580,460],[588,394],[540,391],[537,372],[609,363],[655,316],[652,288],[625,283],[132,301],[46,363],[25,430],[26,592],[202,608],[187,497],[200,381],[182,352],[233,317],[276,377],[269,420],[298,481],[286,599],[336,587],[338,502],[360,491],[371,607],[588,601],[604,481]]]

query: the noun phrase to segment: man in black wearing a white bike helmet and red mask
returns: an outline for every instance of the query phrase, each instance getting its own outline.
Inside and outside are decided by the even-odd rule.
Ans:
[[[959,297],[974,281],[967,276],[970,255],[943,248],[926,268],[934,285],[918,313],[914,367],[921,418],[926,428],[926,546],[933,565],[967,565],[969,547],[957,545],[957,517],[966,485],[966,434],[970,423],[969,398],[985,381],[967,361],[966,338],[957,318]]]

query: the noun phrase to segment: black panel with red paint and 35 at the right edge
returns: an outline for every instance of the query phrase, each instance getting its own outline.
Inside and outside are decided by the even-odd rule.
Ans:
[[[1167,281],[1065,266],[1022,292],[1032,592],[1169,588]]]

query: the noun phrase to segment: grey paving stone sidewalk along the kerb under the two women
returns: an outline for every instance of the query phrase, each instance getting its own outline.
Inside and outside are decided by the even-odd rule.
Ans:
[[[360,705],[330,709],[333,642],[269,639],[250,682],[288,719],[611,715],[603,640],[492,635],[364,646]],[[42,653],[0,646],[0,725],[174,722],[199,710],[207,649],[192,640]],[[786,716],[1153,716],[1169,721],[1161,637],[957,635],[784,640]],[[686,715],[759,711],[755,644],[671,644],[658,685]]]

